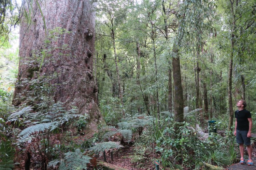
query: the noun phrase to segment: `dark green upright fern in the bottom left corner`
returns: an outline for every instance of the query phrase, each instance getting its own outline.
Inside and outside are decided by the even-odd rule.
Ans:
[[[11,146],[11,141],[1,141],[0,145],[0,169],[3,170],[12,170],[13,158],[14,158],[14,149]]]

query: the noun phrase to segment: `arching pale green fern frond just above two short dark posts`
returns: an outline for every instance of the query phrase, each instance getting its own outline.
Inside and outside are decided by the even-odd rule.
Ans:
[[[102,155],[104,151],[108,151],[110,149],[119,149],[122,148],[123,145],[120,145],[119,142],[101,142],[97,143],[95,146],[89,148],[90,151],[94,151],[96,154]]]

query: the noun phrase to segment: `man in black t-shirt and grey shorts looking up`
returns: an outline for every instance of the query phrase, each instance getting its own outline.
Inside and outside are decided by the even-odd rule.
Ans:
[[[241,154],[240,164],[244,164],[244,145],[247,146],[248,151],[248,165],[253,165],[252,161],[252,146],[251,146],[251,137],[252,137],[252,116],[249,111],[245,109],[246,102],[240,100],[237,102],[238,111],[235,112],[236,123],[234,129],[234,135],[237,138],[237,143],[239,144],[239,150]]]

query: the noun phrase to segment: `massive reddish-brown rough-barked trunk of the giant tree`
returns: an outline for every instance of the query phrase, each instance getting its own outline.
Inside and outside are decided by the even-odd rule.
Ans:
[[[34,71],[39,71],[40,63],[27,64],[37,59],[44,48],[45,29],[51,30],[61,27],[70,31],[64,33],[52,44],[53,62],[47,66],[51,72],[57,72],[59,77],[52,81],[56,86],[55,99],[65,103],[67,109],[77,106],[80,114],[89,114],[89,128],[97,131],[97,123],[102,120],[97,105],[97,84],[93,79],[93,54],[95,41],[95,14],[93,4],[88,0],[58,0],[43,1],[40,4],[46,22],[44,28],[43,18],[33,2],[31,23],[22,18],[20,24],[20,50],[19,50],[19,71],[17,84],[22,83],[26,78],[37,79]],[[47,31],[48,32],[48,31]],[[55,49],[67,45],[65,49]],[[41,57],[39,58],[39,60]],[[40,75],[46,73],[46,66],[43,65]],[[15,87],[13,104],[18,106],[25,101],[16,98],[23,94],[28,86]]]

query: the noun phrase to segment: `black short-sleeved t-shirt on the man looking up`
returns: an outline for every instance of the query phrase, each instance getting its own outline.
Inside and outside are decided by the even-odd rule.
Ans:
[[[251,118],[251,113],[246,109],[235,112],[235,117],[237,118],[237,130],[240,131],[249,131],[249,121],[248,118]]]

